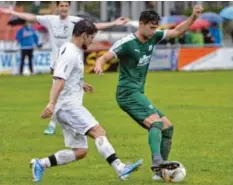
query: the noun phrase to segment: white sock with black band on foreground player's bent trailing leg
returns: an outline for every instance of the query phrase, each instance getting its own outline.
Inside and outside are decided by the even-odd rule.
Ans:
[[[60,150],[57,153],[55,153],[53,156],[50,157],[46,157],[43,159],[40,159],[40,164],[45,167],[45,168],[49,168],[52,166],[52,162],[50,161],[50,158],[55,158],[54,160],[56,160],[56,165],[64,165],[64,164],[68,164],[72,161],[76,160],[76,156],[74,154],[74,151],[72,150]],[[55,165],[53,165],[55,166]]]

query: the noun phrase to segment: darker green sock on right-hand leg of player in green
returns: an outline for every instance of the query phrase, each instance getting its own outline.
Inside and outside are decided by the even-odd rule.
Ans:
[[[171,150],[171,145],[172,145],[172,135],[173,135],[173,126],[168,127],[167,129],[162,131],[162,140],[161,140],[161,155],[163,160],[167,160],[170,150]]]

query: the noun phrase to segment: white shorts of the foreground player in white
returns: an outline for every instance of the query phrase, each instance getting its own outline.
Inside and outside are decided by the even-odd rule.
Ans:
[[[85,134],[99,123],[83,106],[73,106],[69,110],[58,110],[56,119],[63,129],[65,146],[88,148]]]

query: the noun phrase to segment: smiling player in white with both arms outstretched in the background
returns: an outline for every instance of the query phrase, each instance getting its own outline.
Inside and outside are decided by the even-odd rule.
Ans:
[[[72,37],[74,23],[82,20],[81,17],[69,16],[70,1],[56,1],[59,15],[33,15],[29,13],[20,13],[12,8],[0,8],[0,12],[17,16],[30,22],[39,22],[45,26],[49,32],[49,38],[52,45],[51,72],[54,68],[54,61],[57,57],[59,48]],[[123,25],[127,19],[121,17],[113,22],[95,23],[98,30]],[[44,134],[52,135],[55,133],[56,122],[51,120]]]

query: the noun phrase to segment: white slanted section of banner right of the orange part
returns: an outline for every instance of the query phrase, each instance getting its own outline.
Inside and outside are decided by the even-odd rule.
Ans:
[[[233,69],[233,48],[220,48],[182,68],[182,71]]]

